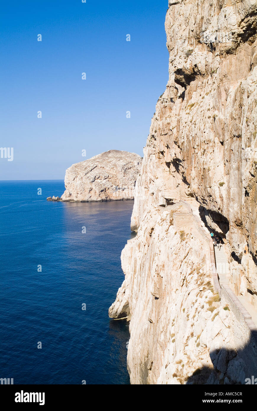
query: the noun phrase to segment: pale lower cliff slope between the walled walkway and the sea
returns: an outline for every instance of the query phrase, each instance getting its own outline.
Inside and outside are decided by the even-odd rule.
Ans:
[[[130,382],[245,383],[256,372],[248,337],[215,293],[208,242],[185,212],[153,206],[122,252],[125,281],[109,316],[130,320]]]

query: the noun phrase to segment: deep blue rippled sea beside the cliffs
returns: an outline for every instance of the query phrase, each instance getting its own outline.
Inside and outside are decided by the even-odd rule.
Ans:
[[[108,309],[124,279],[133,202],[46,201],[64,189],[59,180],[0,182],[0,378],[129,384],[128,324]]]

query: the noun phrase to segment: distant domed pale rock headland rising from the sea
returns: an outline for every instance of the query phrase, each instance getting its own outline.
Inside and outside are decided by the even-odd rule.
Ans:
[[[62,201],[133,200],[142,158],[109,150],[66,170]]]

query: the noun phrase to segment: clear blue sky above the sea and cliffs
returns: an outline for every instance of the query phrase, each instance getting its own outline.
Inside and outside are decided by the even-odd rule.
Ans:
[[[63,179],[67,167],[111,149],[143,156],[168,80],[167,8],[168,0],[2,2],[0,147],[13,147],[14,159],[0,158],[0,180]]]

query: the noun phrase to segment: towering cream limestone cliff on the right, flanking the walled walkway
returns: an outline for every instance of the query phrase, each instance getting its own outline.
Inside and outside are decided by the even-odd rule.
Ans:
[[[218,301],[204,242],[183,223],[180,201],[222,238],[230,286],[257,307],[257,3],[170,2],[165,28],[169,81],[109,315],[130,319],[132,383],[243,383],[248,341]]]

